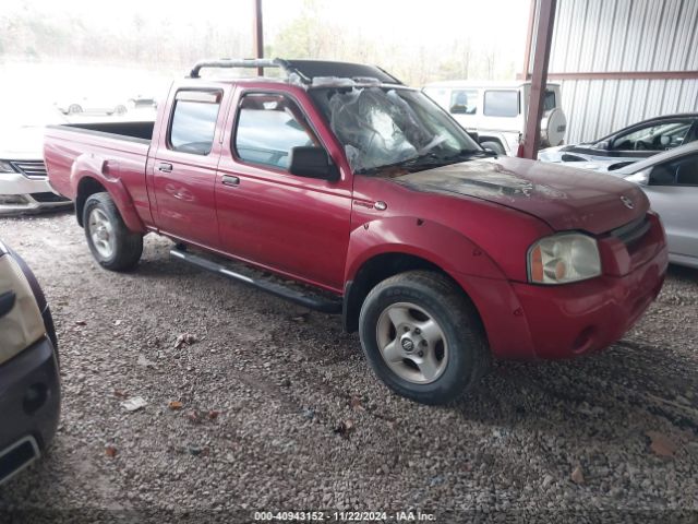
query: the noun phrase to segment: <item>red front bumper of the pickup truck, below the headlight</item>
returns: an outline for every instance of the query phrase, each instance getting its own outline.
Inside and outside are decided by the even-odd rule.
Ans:
[[[457,275],[476,303],[492,354],[561,359],[603,349],[623,337],[659,295],[669,265],[661,223],[626,248],[600,240],[604,275],[559,286]]]

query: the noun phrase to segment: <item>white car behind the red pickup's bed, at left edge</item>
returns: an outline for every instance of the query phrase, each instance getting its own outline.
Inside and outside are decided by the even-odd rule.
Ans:
[[[0,107],[0,215],[68,207],[56,194],[44,165],[44,128],[67,123],[56,110]]]

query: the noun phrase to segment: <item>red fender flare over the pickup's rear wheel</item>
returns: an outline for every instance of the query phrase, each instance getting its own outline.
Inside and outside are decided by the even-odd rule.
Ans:
[[[71,187],[75,188],[75,199],[80,195],[80,184],[91,178],[100,183],[113,200],[127,227],[134,233],[146,233],[145,225],[133,204],[131,193],[119,177],[119,163],[83,153],[75,158],[70,171]],[[76,207],[77,210],[77,207]],[[82,219],[77,217],[79,222]]]

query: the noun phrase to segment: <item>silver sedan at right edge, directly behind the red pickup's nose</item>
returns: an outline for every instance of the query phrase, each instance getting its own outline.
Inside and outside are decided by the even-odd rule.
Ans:
[[[611,174],[642,187],[666,229],[669,260],[698,269],[698,142]]]

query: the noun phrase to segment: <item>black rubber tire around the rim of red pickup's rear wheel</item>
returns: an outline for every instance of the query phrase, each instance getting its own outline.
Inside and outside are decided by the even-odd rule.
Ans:
[[[93,241],[91,214],[95,209],[101,211],[111,226],[113,249],[110,255],[100,253]],[[89,251],[99,265],[110,271],[129,271],[137,265],[143,253],[143,235],[127,227],[109,193],[94,193],[87,198],[83,209],[83,227]]]

